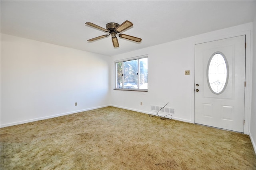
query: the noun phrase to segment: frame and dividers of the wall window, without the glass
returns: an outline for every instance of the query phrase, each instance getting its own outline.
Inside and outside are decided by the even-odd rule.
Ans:
[[[122,74],[124,74],[124,62],[130,61],[130,60],[139,60],[141,58],[148,58],[148,55],[143,55],[143,56],[137,56],[133,58],[126,58],[122,60],[116,60],[114,61],[114,90],[127,90],[127,91],[141,91],[141,92],[148,92],[148,89],[140,89],[140,84],[139,84],[139,77],[140,77],[140,62],[138,62],[138,88],[116,88],[117,86],[117,68],[116,68],[116,63],[122,62]],[[124,82],[124,77],[123,77],[123,82]],[[122,85],[124,87],[124,83]]]

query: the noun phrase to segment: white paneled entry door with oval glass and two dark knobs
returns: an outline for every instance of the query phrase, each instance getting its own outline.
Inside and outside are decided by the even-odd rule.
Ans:
[[[244,132],[245,36],[195,46],[195,123]]]

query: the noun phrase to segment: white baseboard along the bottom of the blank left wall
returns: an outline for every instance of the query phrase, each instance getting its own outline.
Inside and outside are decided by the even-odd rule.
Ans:
[[[35,119],[30,119],[30,120],[23,120],[23,121],[20,121],[20,122],[12,122],[12,123],[8,123],[8,124],[1,124],[0,128],[4,128],[4,127],[7,127],[7,126],[14,126],[14,125],[18,125],[18,124],[29,123],[29,122],[35,122],[35,121],[38,121],[38,120],[55,118],[55,117],[59,117],[59,116],[84,112],[84,111],[88,111],[88,110],[94,110],[94,109],[98,109],[98,108],[104,108],[104,107],[107,107],[107,106],[110,106],[110,105],[98,106],[98,107],[94,107],[94,108],[87,108],[87,109],[83,109],[83,110],[76,110],[76,111],[73,111],[73,112],[67,112],[67,113],[61,113],[61,114],[54,114],[54,115],[51,115],[51,116],[45,116],[45,117],[40,117],[40,118],[35,118]]]

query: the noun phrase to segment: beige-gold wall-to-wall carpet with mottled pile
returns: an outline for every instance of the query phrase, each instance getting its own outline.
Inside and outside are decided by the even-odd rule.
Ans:
[[[1,170],[255,170],[248,135],[114,107],[1,128]]]

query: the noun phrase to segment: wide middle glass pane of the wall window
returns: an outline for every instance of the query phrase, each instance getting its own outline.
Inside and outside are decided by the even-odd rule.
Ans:
[[[138,59],[124,62],[124,88],[138,88]]]

